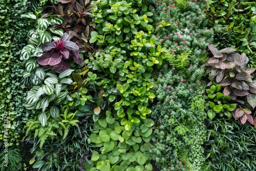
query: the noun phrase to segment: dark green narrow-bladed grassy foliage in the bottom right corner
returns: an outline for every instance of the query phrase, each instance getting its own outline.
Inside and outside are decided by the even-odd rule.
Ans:
[[[210,121],[208,162],[204,170],[254,170],[256,131],[249,123],[227,118]]]

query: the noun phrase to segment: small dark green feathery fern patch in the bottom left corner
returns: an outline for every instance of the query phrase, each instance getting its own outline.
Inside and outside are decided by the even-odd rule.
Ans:
[[[22,157],[20,156],[19,149],[8,148],[0,153],[1,158],[1,170],[14,171],[22,169]],[[5,162],[6,161],[6,162]]]

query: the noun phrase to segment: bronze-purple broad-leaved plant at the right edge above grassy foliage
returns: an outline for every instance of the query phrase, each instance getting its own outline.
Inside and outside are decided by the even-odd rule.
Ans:
[[[236,49],[224,48],[220,51],[214,45],[208,45],[213,57],[205,61],[209,77],[217,82],[223,89],[223,95],[230,95],[231,99],[238,102],[236,111],[232,111],[235,119],[244,124],[248,120],[254,124],[250,115],[256,106],[256,68],[247,67],[248,57],[245,53],[236,53]],[[250,111],[250,112],[249,112]]]

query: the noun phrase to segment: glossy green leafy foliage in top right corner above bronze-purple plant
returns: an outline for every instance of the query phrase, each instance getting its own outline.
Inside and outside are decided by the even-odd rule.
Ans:
[[[218,49],[236,48],[245,53],[250,67],[255,67],[256,3],[254,1],[212,1],[208,12],[209,26]]]

